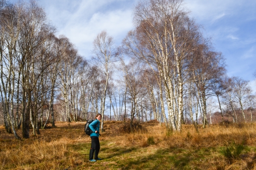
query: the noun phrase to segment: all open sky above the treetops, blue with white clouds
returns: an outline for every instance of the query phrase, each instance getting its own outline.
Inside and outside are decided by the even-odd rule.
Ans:
[[[10,0],[16,2],[17,0]],[[93,39],[102,30],[119,45],[133,28],[132,10],[139,0],[40,0],[59,34],[73,42],[79,53],[91,57]],[[250,80],[256,89],[256,0],[185,0],[216,51],[226,58],[227,74]],[[255,90],[256,91],[256,90]]]

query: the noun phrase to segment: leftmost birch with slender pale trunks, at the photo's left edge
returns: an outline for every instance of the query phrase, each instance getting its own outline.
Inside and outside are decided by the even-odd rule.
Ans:
[[[7,4],[4,0],[0,1],[0,94],[6,131],[8,133],[13,131],[16,139],[20,139],[15,130],[18,117],[15,119],[14,116],[14,95],[17,87],[16,46],[20,32],[20,12],[18,6]]]

